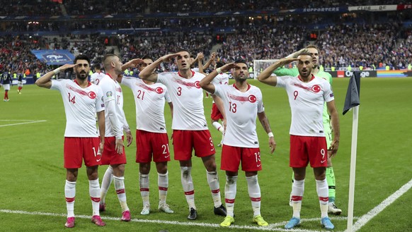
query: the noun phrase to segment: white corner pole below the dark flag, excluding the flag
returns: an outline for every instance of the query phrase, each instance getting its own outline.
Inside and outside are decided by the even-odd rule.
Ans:
[[[357,147],[357,121],[359,106],[353,108],[352,122],[352,147],[350,149],[350,176],[349,176],[349,199],[348,199],[348,232],[353,231],[353,202],[355,200],[355,171],[356,171],[356,147]]]

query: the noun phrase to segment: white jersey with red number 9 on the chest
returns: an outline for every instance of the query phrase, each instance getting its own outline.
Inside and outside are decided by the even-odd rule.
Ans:
[[[312,75],[309,83],[298,76],[277,77],[276,87],[284,87],[292,111],[291,135],[325,136],[322,114],[324,102],[333,101],[331,84]]]

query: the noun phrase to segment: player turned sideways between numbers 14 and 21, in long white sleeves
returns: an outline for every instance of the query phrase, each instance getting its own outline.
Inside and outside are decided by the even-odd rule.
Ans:
[[[115,54],[103,56],[106,75],[99,86],[103,90],[105,102],[105,147],[102,165],[109,165],[101,183],[101,211],[105,211],[105,195],[114,179],[115,190],[122,207],[122,221],[130,221],[130,209],[127,207],[125,192],[126,154],[123,145],[123,130],[126,132],[127,146],[132,144],[132,133],[123,111],[122,87],[118,83],[118,75],[122,74],[122,62]]]

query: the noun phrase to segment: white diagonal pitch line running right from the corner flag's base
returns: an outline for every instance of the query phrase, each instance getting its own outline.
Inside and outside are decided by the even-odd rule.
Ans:
[[[390,204],[392,204],[396,199],[401,197],[401,195],[404,195],[404,193],[408,192],[409,189],[412,188],[412,179],[408,183],[404,184],[399,190],[397,190],[394,194],[390,195],[385,199],[383,202],[378,204],[376,207],[370,210],[370,212],[367,212],[367,214],[364,214],[353,224],[353,232],[360,230],[362,226],[365,226],[368,221],[374,218],[374,216],[377,216],[380,212],[382,212],[386,207],[388,207]],[[348,230],[345,230],[347,232]]]

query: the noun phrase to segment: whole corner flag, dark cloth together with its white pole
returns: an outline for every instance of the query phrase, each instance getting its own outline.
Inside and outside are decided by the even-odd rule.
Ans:
[[[353,231],[353,202],[355,198],[355,170],[356,170],[356,146],[357,146],[357,121],[360,104],[360,72],[355,71],[349,80],[348,92],[346,92],[343,115],[353,108],[352,146],[350,149],[350,176],[348,197],[348,232]]]

